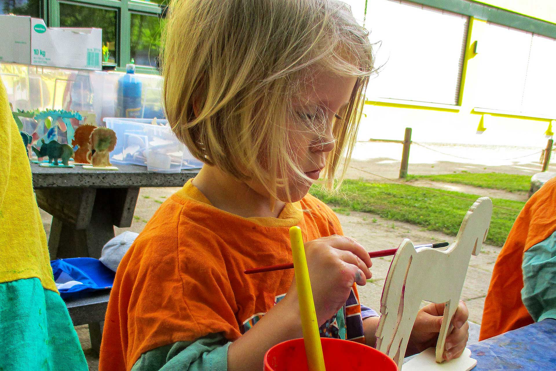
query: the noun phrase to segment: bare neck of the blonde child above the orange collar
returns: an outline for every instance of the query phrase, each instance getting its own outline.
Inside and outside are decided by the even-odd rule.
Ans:
[[[212,206],[242,217],[278,217],[285,205],[276,201],[274,210],[271,210],[269,197],[214,166],[204,165],[193,179],[193,185]]]

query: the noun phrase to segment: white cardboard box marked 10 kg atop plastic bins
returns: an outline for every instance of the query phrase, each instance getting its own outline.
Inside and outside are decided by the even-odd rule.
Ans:
[[[46,27],[42,19],[0,16],[0,62],[102,70],[102,29]]]

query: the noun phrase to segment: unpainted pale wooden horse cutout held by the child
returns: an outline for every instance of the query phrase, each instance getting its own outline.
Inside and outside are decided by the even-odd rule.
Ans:
[[[475,201],[465,214],[454,243],[445,251],[432,248],[415,250],[410,240],[402,241],[386,276],[380,300],[381,317],[376,330],[376,349],[394,359],[399,369],[421,300],[446,303],[435,357],[436,362],[443,362],[446,335],[451,330],[449,324],[458,308],[469,260],[471,254],[479,255],[491,215],[492,201],[488,197]],[[466,353],[469,353],[467,349]],[[475,364],[473,360],[471,368]]]

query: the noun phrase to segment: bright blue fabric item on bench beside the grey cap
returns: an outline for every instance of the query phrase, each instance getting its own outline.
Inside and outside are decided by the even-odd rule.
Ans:
[[[50,265],[57,286],[68,282],[71,285],[72,281],[77,281],[69,287],[58,287],[63,299],[82,296],[87,291],[111,289],[114,284],[116,274],[98,259],[57,259],[52,260]]]

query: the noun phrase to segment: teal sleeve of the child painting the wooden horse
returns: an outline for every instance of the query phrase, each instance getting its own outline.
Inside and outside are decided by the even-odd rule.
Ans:
[[[227,371],[230,344],[217,333],[194,342],[163,345],[141,354],[131,371]]]

